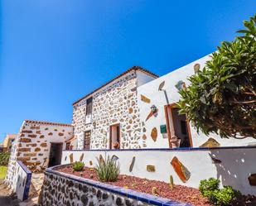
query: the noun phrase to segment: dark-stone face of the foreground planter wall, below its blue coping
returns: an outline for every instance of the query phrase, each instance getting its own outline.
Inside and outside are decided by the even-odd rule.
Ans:
[[[40,205],[51,206],[142,206],[137,199],[110,193],[82,181],[75,181],[46,172]]]

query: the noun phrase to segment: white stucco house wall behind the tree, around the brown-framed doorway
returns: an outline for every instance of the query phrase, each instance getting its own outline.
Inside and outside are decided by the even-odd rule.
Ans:
[[[194,73],[194,65],[200,64],[200,69],[202,69],[205,65],[205,61],[210,60],[210,57],[207,55],[200,60],[196,60],[189,65],[183,66],[180,69],[176,69],[169,74],[166,74],[158,79],[152,80],[147,84],[143,84],[138,87],[138,107],[140,111],[140,118],[142,122],[145,122],[146,132],[144,134],[147,137],[146,143],[147,148],[167,148],[168,139],[167,135],[160,134],[160,125],[167,124],[164,106],[168,103],[176,103],[178,102],[180,95],[178,93],[178,89],[176,89],[175,85],[178,81],[182,80],[189,85],[189,81],[187,78]],[[158,91],[159,85],[165,81],[165,85],[163,89],[167,92],[167,99],[163,91]],[[146,96],[151,100],[151,103],[145,103],[141,100],[141,94]],[[146,120],[147,114],[150,112],[150,107],[152,105],[156,105],[158,108],[158,113],[156,117],[151,117]],[[157,141],[152,141],[151,131],[153,127],[157,127]],[[256,140],[254,138],[245,138],[243,140],[237,140],[234,138],[223,139],[215,134],[210,134],[209,137],[205,136],[202,132],[197,133],[194,127],[191,127],[191,137],[193,141],[193,146],[198,147],[205,143],[209,137],[214,137],[216,141],[220,142],[220,146],[248,146],[252,144],[256,144]]]

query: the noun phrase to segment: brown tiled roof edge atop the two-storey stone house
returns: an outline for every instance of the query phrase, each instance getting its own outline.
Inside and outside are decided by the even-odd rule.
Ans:
[[[106,86],[106,85],[108,85],[108,84],[114,82],[114,80],[119,79],[119,78],[122,77],[124,74],[128,74],[130,71],[133,71],[133,70],[135,70],[135,71],[136,71],[136,70],[142,71],[143,73],[149,74],[149,75],[151,75],[151,76],[154,77],[154,78],[158,78],[158,77],[159,77],[157,74],[154,74],[154,73],[152,73],[151,71],[149,71],[149,70],[147,70],[147,69],[143,69],[143,68],[140,67],[140,66],[133,66],[133,67],[131,67],[130,69],[127,69],[127,70],[125,70],[123,73],[121,73],[121,74],[119,74],[118,76],[116,76],[114,79],[111,79],[111,80],[109,80],[107,83],[101,85],[99,88],[94,89],[94,91],[92,91],[91,93],[88,93],[88,94],[86,94],[84,97],[82,97],[82,98],[76,100],[75,103],[73,103],[72,105],[75,106],[76,103],[79,103],[79,102],[80,102],[81,100],[83,100],[84,98],[89,97],[89,95],[91,95],[91,94],[97,92],[99,89],[104,88],[104,86]]]

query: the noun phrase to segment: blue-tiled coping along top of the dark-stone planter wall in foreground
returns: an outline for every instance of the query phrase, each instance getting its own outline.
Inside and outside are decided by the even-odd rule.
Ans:
[[[177,202],[176,200],[161,198],[161,197],[154,196],[152,194],[144,194],[138,191],[134,191],[132,189],[124,189],[122,187],[114,186],[111,184],[104,184],[98,181],[89,180],[89,179],[85,179],[75,175],[70,175],[70,174],[56,171],[56,169],[67,166],[67,165],[71,165],[71,164],[56,165],[56,166],[47,168],[45,173],[60,175],[67,179],[75,180],[83,184],[89,184],[90,186],[107,190],[110,193],[120,194],[131,199],[137,199],[138,201],[142,201],[147,204],[154,204],[159,206],[193,206],[192,204],[183,204],[183,203]]]

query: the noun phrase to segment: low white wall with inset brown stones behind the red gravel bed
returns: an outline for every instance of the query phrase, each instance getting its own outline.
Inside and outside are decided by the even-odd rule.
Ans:
[[[63,151],[61,164],[83,161],[97,164],[96,157],[114,156],[123,175],[198,188],[200,180],[214,177],[243,194],[256,194],[256,146],[141,150]]]

